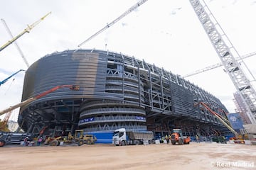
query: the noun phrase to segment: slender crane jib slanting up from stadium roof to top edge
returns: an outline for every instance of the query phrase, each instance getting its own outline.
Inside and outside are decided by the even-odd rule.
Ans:
[[[90,38],[87,38],[85,41],[83,41],[82,43],[80,43],[80,45],[78,45],[78,47],[82,46],[83,44],[85,44],[85,42],[88,42],[89,40],[92,40],[92,38],[95,38],[95,36],[99,35],[100,33],[102,33],[104,30],[107,30],[107,28],[110,28],[110,26],[113,26],[114,23],[117,23],[117,21],[121,20],[122,18],[124,18],[124,16],[127,16],[129,13],[131,13],[132,11],[134,11],[136,8],[138,8],[139,6],[141,6],[142,4],[144,4],[147,0],[141,0],[139,2],[137,2],[137,4],[134,4],[132,7],[130,7],[127,11],[125,11],[124,13],[122,13],[121,16],[117,17],[116,19],[114,19],[114,21],[112,21],[111,23],[107,23],[107,26],[105,26],[104,28],[102,28],[101,30],[98,30],[97,33],[93,34],[92,36],[90,36]]]

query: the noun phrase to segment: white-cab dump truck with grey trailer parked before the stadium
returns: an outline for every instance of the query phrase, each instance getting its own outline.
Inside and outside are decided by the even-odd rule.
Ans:
[[[126,130],[120,128],[114,130],[112,144],[116,146],[151,144],[154,134],[151,131]]]

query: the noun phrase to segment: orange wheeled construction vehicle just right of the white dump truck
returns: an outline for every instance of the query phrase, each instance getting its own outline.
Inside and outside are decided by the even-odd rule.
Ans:
[[[176,143],[178,143],[178,145],[183,145],[189,144],[191,138],[188,136],[183,136],[181,129],[173,129],[170,140],[172,145],[176,145]]]

